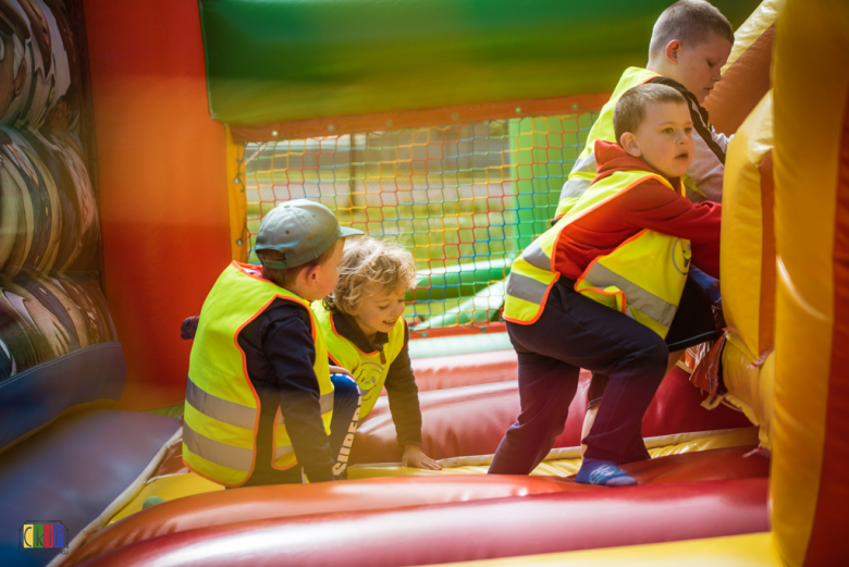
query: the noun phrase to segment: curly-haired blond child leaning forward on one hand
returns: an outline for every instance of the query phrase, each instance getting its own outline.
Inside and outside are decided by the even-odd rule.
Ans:
[[[345,247],[339,272],[333,294],[313,303],[312,310],[332,363],[350,370],[359,384],[359,419],[369,415],[385,385],[397,442],[404,447],[402,464],[439,470],[421,451],[421,410],[403,317],[404,296],[416,278],[413,255],[382,241],[359,238]]]

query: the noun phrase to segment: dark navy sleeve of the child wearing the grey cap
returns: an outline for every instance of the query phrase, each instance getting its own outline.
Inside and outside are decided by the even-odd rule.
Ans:
[[[262,349],[274,367],[280,410],[298,463],[310,482],[333,480],[333,458],[319,405],[320,390],[312,365],[316,344],[310,324],[300,317],[269,323]]]

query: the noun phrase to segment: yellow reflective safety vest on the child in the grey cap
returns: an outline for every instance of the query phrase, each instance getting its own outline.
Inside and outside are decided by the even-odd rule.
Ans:
[[[200,310],[183,418],[183,460],[193,471],[225,486],[243,484],[257,456],[259,397],[247,374],[238,333],[275,298],[303,305],[310,312],[321,419],[330,434],[333,384],[324,338],[317,332],[309,301],[263,280],[254,267],[234,261],[219,276]],[[271,466],[285,470],[297,459],[280,407],[274,423]]]

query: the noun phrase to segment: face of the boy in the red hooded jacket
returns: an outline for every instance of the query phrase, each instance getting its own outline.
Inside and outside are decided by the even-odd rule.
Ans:
[[[649,103],[637,132],[626,132],[619,143],[665,176],[680,177],[692,161],[690,109],[676,102]]]

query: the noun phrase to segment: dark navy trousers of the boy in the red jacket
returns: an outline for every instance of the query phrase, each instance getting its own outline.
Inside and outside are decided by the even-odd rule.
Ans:
[[[519,358],[521,414],[493,458],[490,473],[528,474],[563,432],[581,368],[610,382],[586,457],[617,464],[649,458],[642,418],[666,373],[669,348],[649,328],[583,297],[561,278],[537,322],[507,322]]]

